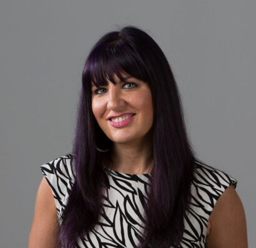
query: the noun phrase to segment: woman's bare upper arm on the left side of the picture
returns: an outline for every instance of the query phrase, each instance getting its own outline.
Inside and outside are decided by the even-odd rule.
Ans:
[[[56,248],[58,229],[54,197],[46,178],[43,177],[37,191],[28,248]]]

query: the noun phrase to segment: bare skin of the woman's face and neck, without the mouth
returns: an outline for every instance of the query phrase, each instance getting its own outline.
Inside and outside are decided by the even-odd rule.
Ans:
[[[113,141],[113,169],[129,174],[149,173],[152,168],[152,161],[148,163],[152,156],[150,128],[154,118],[149,85],[132,77],[120,82],[114,75],[114,80],[116,85],[107,80],[106,87],[92,84],[92,112],[102,131]],[[126,126],[116,128],[106,120],[125,112],[135,113],[134,120]]]

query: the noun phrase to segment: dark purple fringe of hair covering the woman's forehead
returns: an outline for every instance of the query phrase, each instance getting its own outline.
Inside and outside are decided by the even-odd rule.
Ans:
[[[96,87],[107,85],[107,79],[116,84],[114,74],[121,81],[127,76],[148,82],[147,70],[140,55],[126,42],[112,42],[92,50],[87,59],[86,79]]]

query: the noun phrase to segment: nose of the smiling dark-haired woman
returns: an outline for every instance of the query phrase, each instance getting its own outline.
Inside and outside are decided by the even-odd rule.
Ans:
[[[125,105],[124,98],[116,86],[117,85],[112,84],[111,87],[109,87],[109,99],[107,101],[107,109],[109,110],[117,110]]]

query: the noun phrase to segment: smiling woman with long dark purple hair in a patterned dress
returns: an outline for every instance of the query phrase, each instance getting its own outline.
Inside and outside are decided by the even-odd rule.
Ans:
[[[92,47],[73,151],[41,169],[29,248],[247,247],[237,180],[195,158],[170,65],[137,27]]]

